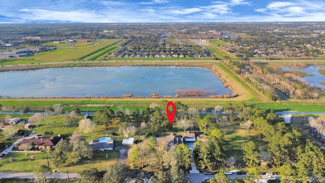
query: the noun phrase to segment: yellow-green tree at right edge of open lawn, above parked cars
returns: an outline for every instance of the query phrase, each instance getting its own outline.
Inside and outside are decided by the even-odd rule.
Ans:
[[[243,146],[244,157],[243,160],[249,167],[254,167],[259,163],[259,150],[253,141],[249,141]]]

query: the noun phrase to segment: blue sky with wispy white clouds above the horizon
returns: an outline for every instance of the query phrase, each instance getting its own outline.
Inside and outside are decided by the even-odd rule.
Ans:
[[[1,0],[0,23],[325,21],[325,1]]]

